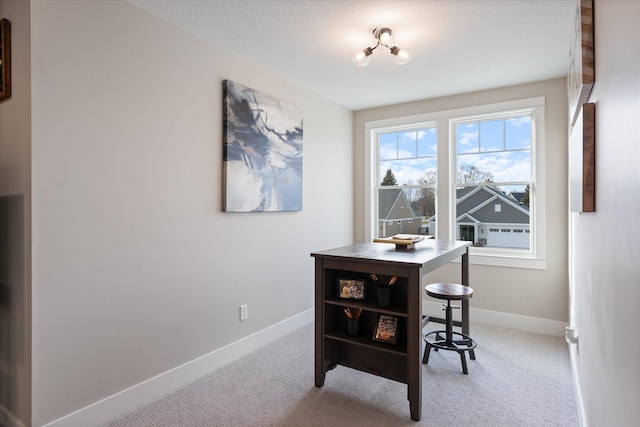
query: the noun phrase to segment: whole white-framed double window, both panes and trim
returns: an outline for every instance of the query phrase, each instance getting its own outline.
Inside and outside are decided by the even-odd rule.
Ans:
[[[545,268],[544,97],[365,129],[367,237],[468,240],[472,263]]]

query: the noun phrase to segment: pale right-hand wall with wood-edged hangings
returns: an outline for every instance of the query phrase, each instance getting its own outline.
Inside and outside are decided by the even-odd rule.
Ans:
[[[595,2],[596,211],[572,213],[585,425],[640,419],[640,2]]]

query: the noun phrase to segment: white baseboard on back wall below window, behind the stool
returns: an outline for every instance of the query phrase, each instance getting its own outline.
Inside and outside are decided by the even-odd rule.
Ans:
[[[422,313],[435,317],[443,317],[442,303],[423,300]],[[471,322],[486,323],[488,325],[502,326],[505,328],[519,329],[521,331],[559,337],[564,337],[565,328],[567,327],[566,322],[560,322],[558,320],[501,313],[498,311],[483,310],[474,307],[471,307],[469,316],[471,318]],[[460,318],[460,310],[454,310],[453,318]]]

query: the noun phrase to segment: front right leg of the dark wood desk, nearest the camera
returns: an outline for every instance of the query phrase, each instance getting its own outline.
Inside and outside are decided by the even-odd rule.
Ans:
[[[407,391],[411,419],[422,417],[422,290],[421,269],[411,271],[407,283]]]

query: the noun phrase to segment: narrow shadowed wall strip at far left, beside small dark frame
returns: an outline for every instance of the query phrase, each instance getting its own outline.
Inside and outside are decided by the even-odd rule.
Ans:
[[[11,21],[12,46],[12,96],[0,102],[0,198],[11,200],[11,209],[22,216],[0,225],[9,231],[7,240],[4,234],[0,239],[0,425],[26,426],[31,415],[30,3],[1,0],[0,18]]]

